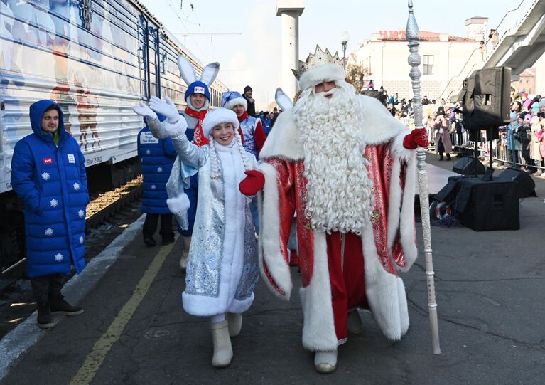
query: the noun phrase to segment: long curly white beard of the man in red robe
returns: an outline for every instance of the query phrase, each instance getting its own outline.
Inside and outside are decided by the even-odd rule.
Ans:
[[[373,182],[356,95],[347,83],[337,84],[330,98],[306,90],[293,110],[305,153],[305,216],[318,231],[360,234],[374,209]]]

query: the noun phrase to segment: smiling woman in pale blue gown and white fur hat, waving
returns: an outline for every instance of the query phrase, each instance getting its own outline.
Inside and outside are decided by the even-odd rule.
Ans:
[[[242,147],[239,121],[231,110],[208,112],[203,134],[210,143],[198,147],[185,137],[186,123],[176,120],[176,108],[155,102],[151,108],[167,117],[163,128],[183,164],[180,177],[198,175],[197,217],[185,272],[183,308],[191,315],[210,317],[212,365],[227,366],[232,359],[230,337],[240,332],[242,312],[252,305],[259,275],[250,198],[239,191],[242,179],[257,173],[257,161]]]

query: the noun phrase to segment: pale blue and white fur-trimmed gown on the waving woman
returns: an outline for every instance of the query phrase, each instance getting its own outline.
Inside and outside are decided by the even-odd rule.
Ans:
[[[179,162],[178,180],[198,174],[198,205],[185,272],[183,308],[191,315],[242,313],[254,300],[258,279],[257,243],[249,199],[239,191],[246,176],[237,139],[215,146],[217,178],[211,178],[210,147],[197,147],[185,135],[173,137]],[[246,153],[257,166],[255,157]],[[172,179],[172,177],[171,177]],[[179,186],[178,186],[179,188]],[[180,191],[169,191],[173,198]]]

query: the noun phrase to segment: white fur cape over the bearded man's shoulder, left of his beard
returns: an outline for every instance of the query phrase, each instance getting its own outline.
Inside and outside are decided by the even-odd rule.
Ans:
[[[259,159],[266,160],[273,157],[288,160],[305,159],[299,137],[301,137],[301,131],[293,117],[293,109],[282,112],[274,123],[274,130],[271,130],[259,152]]]

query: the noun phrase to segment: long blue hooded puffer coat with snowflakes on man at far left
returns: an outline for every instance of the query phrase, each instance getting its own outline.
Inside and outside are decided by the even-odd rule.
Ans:
[[[59,110],[59,144],[41,130],[41,117],[50,106]],[[77,273],[85,268],[85,207],[89,203],[85,158],[65,130],[55,102],[31,105],[33,134],[15,145],[11,186],[25,204],[26,273],[39,277]]]

